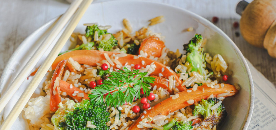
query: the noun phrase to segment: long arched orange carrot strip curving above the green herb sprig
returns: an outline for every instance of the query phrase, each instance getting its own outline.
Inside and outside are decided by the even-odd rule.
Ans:
[[[108,54],[108,56],[111,56],[112,54],[118,54],[110,51],[104,51],[101,52],[99,50],[74,50],[71,52],[67,52],[65,54],[62,54],[57,57],[57,59],[54,61],[52,64],[52,68],[55,68],[58,63],[64,59],[69,59],[70,57],[77,61],[80,64],[88,64],[91,66],[97,66],[96,63],[101,62],[102,60],[105,60],[104,53]],[[150,75],[153,76],[159,76],[159,73],[162,73],[163,78],[168,78],[169,76],[174,76],[176,79],[176,87],[179,89],[179,91],[184,91],[186,90],[185,86],[181,86],[182,81],[179,80],[179,77],[176,72],[174,72],[172,69],[166,68],[166,66],[162,63],[159,63],[157,61],[154,61],[152,59],[148,59],[145,57],[137,57],[137,59],[134,59],[135,55],[127,54],[126,57],[119,58],[118,61],[124,65],[125,63],[128,64],[140,64],[141,67],[146,67],[147,65],[150,65],[151,63],[154,62],[156,68],[155,71],[152,72]],[[144,61],[144,65],[141,63]],[[116,64],[114,63],[114,68],[116,67]],[[164,71],[162,72],[162,68],[165,68]]]

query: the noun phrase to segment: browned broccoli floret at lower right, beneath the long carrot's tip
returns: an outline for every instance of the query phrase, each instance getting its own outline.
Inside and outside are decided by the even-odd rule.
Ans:
[[[221,103],[221,101],[217,98],[209,98],[207,100],[202,99],[199,104],[195,105],[195,108],[192,112],[193,115],[200,114],[204,117],[204,120],[201,123],[196,123],[194,125],[195,128],[208,129],[209,125],[214,127],[215,125],[219,125],[225,119],[227,112],[222,103],[217,108],[215,107],[214,110],[211,110],[212,106],[216,105],[217,103]]]

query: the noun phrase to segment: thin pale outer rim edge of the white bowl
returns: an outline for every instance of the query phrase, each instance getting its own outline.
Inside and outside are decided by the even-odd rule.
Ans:
[[[97,3],[113,3],[113,2],[144,2],[144,3],[152,3],[152,4],[156,4],[156,5],[161,5],[161,6],[167,6],[167,7],[172,7],[172,8],[175,8],[177,10],[181,10],[181,11],[184,11],[185,13],[191,15],[192,17],[194,17],[195,19],[200,19],[201,21],[203,21],[203,23],[205,25],[208,25],[210,27],[212,27],[216,32],[218,32],[223,38],[225,38],[227,41],[229,41],[231,43],[231,45],[233,46],[233,48],[236,50],[237,52],[237,55],[241,58],[242,60],[242,63],[244,64],[245,66],[245,69],[246,69],[246,72],[247,72],[247,75],[248,75],[248,78],[249,78],[249,82],[250,82],[250,107],[249,107],[249,110],[248,110],[248,113],[246,115],[246,120],[244,120],[243,122],[243,130],[246,130],[250,124],[250,120],[251,120],[251,116],[253,114],[253,107],[254,107],[254,85],[253,85],[253,79],[252,79],[252,76],[251,76],[251,72],[250,72],[250,69],[248,67],[248,64],[246,62],[246,59],[245,57],[243,56],[243,54],[241,53],[241,51],[239,50],[239,48],[236,46],[236,44],[232,41],[232,39],[230,37],[228,37],[228,35],[226,35],[220,28],[218,28],[216,25],[214,25],[212,22],[210,22],[209,20],[205,19],[204,17],[200,16],[200,15],[197,15],[191,11],[188,11],[184,8],[181,8],[181,7],[176,7],[176,6],[173,6],[173,5],[169,5],[169,4],[166,4],[166,3],[159,3],[159,2],[151,2],[151,1],[141,1],[141,0],[113,0],[113,1],[105,1],[105,2],[95,2],[95,3],[92,3],[91,5],[93,4],[97,4]],[[90,6],[91,6],[90,5]],[[7,74],[8,74],[8,68],[9,68],[9,65],[12,64],[13,60],[16,55],[18,55],[20,53],[20,50],[24,48],[24,46],[26,46],[28,44],[28,41],[29,39],[35,37],[37,35],[37,33],[39,31],[41,31],[42,29],[46,28],[49,24],[53,24],[55,22],[55,20],[58,19],[59,16],[49,20],[48,22],[46,22],[45,24],[43,24],[41,27],[39,27],[38,29],[36,29],[33,33],[31,33],[28,37],[26,37],[22,42],[21,44],[16,48],[16,50],[14,51],[14,53],[11,55],[10,59],[8,60],[6,66],[4,67],[3,69],[3,72],[2,72],[2,75],[1,75],[1,78],[0,78],[0,93],[2,93],[2,89],[3,89],[3,82],[6,78],[7,78]],[[1,116],[2,116],[2,113],[1,112]]]

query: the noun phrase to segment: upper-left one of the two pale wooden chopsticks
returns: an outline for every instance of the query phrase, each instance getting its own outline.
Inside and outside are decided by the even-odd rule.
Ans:
[[[58,34],[62,31],[62,28],[68,23],[72,15],[76,12],[82,0],[75,0],[71,6],[67,9],[64,15],[60,18],[57,24],[54,26],[53,30],[49,34],[49,36],[44,40],[44,42],[39,46],[39,48],[35,51],[33,56],[30,58],[28,63],[24,66],[21,72],[16,76],[15,80],[8,87],[7,91],[0,98],[0,112],[4,109],[7,103],[10,101],[12,95],[16,92],[16,90],[20,87],[23,81],[30,74],[36,63],[43,56],[45,51],[54,41],[54,39],[58,36]]]

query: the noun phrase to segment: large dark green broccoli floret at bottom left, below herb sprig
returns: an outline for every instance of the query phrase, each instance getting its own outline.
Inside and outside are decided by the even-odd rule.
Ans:
[[[51,118],[57,130],[108,130],[109,113],[104,103],[95,105],[89,100],[80,103],[69,100],[64,105],[60,103],[59,107]],[[87,121],[96,128],[86,127]]]

